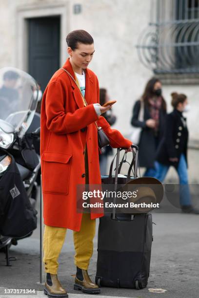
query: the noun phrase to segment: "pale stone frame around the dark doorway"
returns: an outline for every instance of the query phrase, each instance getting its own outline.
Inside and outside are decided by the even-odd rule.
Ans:
[[[28,19],[40,17],[60,16],[60,66],[65,62],[66,41],[65,37],[69,28],[69,9],[68,1],[66,3],[56,3],[48,5],[26,5],[17,9],[16,24],[16,52],[15,65],[17,68],[28,71]]]

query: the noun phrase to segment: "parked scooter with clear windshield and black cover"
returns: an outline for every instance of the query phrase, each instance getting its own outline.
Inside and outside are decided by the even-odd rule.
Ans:
[[[33,142],[40,138],[40,127],[28,129],[38,91],[37,82],[27,73],[0,69],[0,249],[5,250],[7,265],[9,246],[31,236],[37,227],[40,156]]]

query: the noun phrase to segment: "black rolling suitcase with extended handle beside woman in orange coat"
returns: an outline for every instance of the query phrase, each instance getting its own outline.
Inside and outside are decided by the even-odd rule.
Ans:
[[[134,167],[137,177],[138,147]],[[117,151],[115,186],[119,168]],[[151,214],[105,214],[98,230],[98,261],[96,283],[99,286],[136,288],[146,287],[152,236]]]

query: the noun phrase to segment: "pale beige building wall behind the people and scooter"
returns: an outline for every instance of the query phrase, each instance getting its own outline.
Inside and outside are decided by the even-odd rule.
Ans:
[[[0,0],[0,67],[15,66],[26,69],[27,54],[23,17],[38,16],[45,12],[61,11],[61,61],[66,59],[66,34],[75,29],[88,31],[95,41],[96,53],[90,68],[98,75],[100,86],[108,89],[111,99],[117,99],[113,110],[118,120],[114,128],[128,135],[131,130],[132,107],[143,92],[146,81],[153,75],[138,58],[136,44],[142,31],[148,26],[150,1],[137,0],[79,0],[82,12],[75,15],[75,0]],[[23,46],[21,46],[23,44]],[[163,86],[163,94],[170,107],[170,93],[186,93],[191,104],[187,114],[190,138],[199,141],[199,86]],[[189,150],[190,180],[199,181],[199,169],[195,167],[198,150]],[[170,177],[173,177],[170,171]]]

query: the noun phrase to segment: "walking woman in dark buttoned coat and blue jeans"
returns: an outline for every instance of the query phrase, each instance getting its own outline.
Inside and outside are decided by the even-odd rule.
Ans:
[[[166,116],[164,136],[157,150],[157,173],[163,181],[170,166],[174,166],[179,176],[179,203],[185,213],[199,214],[191,203],[187,172],[188,129],[182,112],[188,112],[189,105],[185,94],[172,93],[173,112]]]

